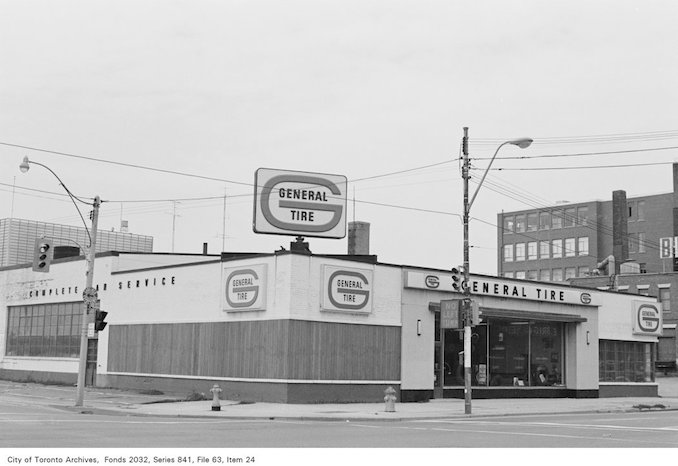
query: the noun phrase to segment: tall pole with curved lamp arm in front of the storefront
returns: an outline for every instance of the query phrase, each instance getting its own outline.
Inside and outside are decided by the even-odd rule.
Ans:
[[[471,414],[471,288],[469,286],[470,280],[470,270],[469,270],[469,231],[468,231],[468,222],[469,222],[469,212],[471,211],[471,206],[473,201],[475,201],[476,196],[478,196],[478,191],[485,181],[487,173],[490,171],[492,162],[497,157],[499,149],[501,149],[506,144],[512,144],[518,146],[521,149],[525,149],[532,144],[532,139],[530,138],[520,138],[512,139],[510,141],[503,142],[497,147],[497,150],[494,152],[490,163],[483,173],[483,177],[480,179],[480,183],[476,187],[473,197],[469,201],[468,199],[468,180],[469,176],[469,157],[468,157],[468,128],[464,127],[464,138],[462,140],[462,153],[464,155],[464,166],[462,169],[462,178],[464,179],[464,299],[462,300],[462,313],[464,316],[464,412],[466,414]]]

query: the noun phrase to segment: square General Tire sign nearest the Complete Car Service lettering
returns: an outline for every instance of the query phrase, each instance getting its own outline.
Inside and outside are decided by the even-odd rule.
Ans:
[[[223,309],[258,311],[266,308],[266,264],[224,268]]]

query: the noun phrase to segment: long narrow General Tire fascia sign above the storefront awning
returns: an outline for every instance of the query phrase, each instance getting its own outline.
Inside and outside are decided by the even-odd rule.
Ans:
[[[491,277],[474,277],[469,281],[471,294],[498,298],[527,299],[551,303],[599,306],[600,298],[593,292],[581,291],[569,286],[548,283],[502,280]],[[458,293],[452,286],[452,273],[427,273],[408,270],[405,288]]]

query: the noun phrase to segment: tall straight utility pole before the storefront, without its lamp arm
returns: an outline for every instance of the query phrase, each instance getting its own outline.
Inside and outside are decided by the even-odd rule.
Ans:
[[[464,127],[464,140],[462,142],[462,153],[464,155],[464,165],[462,168],[462,178],[464,179],[464,299],[461,302],[462,315],[464,316],[464,412],[471,414],[471,322],[470,322],[470,296],[471,289],[469,283],[469,245],[468,245],[468,220],[469,220],[469,202],[468,202],[468,180],[469,180],[469,158],[468,158],[468,128]]]

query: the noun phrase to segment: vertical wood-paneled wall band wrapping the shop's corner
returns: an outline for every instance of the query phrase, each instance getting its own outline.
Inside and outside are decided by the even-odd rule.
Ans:
[[[400,380],[400,327],[300,320],[113,325],[108,371]]]

